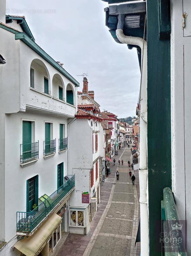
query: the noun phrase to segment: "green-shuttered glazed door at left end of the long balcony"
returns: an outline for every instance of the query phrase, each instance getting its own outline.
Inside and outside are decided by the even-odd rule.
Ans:
[[[26,211],[31,212],[38,206],[39,175],[26,181]]]

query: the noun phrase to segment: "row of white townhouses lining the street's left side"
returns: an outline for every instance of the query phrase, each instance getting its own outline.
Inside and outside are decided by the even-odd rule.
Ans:
[[[100,182],[125,128],[94,91],[38,44],[24,16],[0,10],[0,255],[49,256],[87,234]]]

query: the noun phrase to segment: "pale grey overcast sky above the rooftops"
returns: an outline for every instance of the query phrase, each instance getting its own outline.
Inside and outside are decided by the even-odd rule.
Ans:
[[[119,118],[134,116],[140,86],[137,53],[110,35],[105,26],[106,6],[101,0],[6,2],[7,14],[26,17],[36,43],[64,63],[63,68],[79,81],[79,91],[83,78],[77,75],[88,73],[89,90],[94,90],[101,111]],[[44,13],[49,10],[54,11]]]

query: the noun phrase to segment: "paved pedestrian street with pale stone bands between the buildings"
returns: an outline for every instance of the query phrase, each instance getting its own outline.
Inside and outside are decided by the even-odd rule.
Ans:
[[[139,244],[135,246],[139,221],[137,196],[139,179],[138,170],[135,171],[135,186],[129,179],[130,148],[121,148],[118,156],[112,158],[111,173],[105,178],[105,182],[101,183],[101,202],[92,220],[89,234],[87,236],[69,234],[64,243],[61,241],[62,246],[54,256],[135,256],[140,254]],[[118,165],[119,159],[120,165]],[[119,180],[116,180],[116,170],[120,173]]]

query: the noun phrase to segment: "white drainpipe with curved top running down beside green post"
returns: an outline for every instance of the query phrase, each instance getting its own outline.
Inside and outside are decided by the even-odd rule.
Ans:
[[[137,45],[141,48],[141,86],[140,86],[140,132],[139,132],[139,186],[141,216],[141,256],[149,255],[149,225],[147,202],[147,43],[141,37],[125,36],[123,33],[124,14],[118,15],[116,36],[123,44]]]

